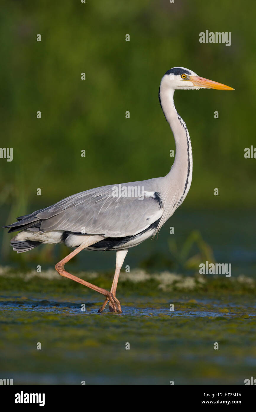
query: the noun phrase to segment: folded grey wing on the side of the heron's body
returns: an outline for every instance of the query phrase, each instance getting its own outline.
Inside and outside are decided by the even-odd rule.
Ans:
[[[33,215],[41,220],[44,232],[64,230],[122,237],[147,229],[161,218],[162,210],[154,190],[143,197],[113,196],[111,185],[75,194]]]

